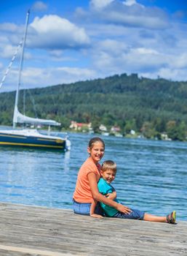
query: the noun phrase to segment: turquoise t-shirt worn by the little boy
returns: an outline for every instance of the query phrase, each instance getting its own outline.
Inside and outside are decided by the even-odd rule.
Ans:
[[[112,187],[111,184],[109,184],[106,180],[104,180],[104,178],[100,178],[98,182],[98,189],[102,195],[107,195],[108,193],[112,193],[115,191],[114,187]],[[114,201],[118,203],[117,199],[115,199]],[[108,217],[113,217],[118,212],[116,208],[107,206],[102,202],[100,202],[100,206],[103,208],[103,210],[106,213],[106,216]]]

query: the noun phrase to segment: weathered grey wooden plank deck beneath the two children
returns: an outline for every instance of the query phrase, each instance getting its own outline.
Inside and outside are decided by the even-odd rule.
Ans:
[[[187,255],[187,222],[93,219],[71,210],[0,203],[0,227],[1,256]]]

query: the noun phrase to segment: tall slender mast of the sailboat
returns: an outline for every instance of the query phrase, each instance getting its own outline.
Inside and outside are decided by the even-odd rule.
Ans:
[[[14,111],[14,116],[17,115],[17,105],[18,105],[18,98],[19,98],[19,90],[20,90],[20,80],[21,80],[21,72],[23,68],[23,56],[24,56],[24,48],[25,48],[25,39],[27,36],[27,30],[28,30],[28,19],[30,15],[30,10],[28,10],[27,15],[26,15],[26,20],[25,20],[25,33],[23,37],[23,45],[22,45],[22,53],[20,56],[20,69],[19,69],[19,76],[18,76],[18,82],[17,82],[17,90],[15,94],[15,111]],[[14,120],[14,118],[13,118]],[[13,128],[16,127],[16,122],[13,121]]]

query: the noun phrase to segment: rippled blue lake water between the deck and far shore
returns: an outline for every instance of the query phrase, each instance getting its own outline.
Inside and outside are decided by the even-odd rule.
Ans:
[[[71,152],[0,147],[0,201],[72,208],[76,175],[92,135],[69,135]],[[187,143],[103,137],[118,166],[114,187],[127,206],[187,221]]]

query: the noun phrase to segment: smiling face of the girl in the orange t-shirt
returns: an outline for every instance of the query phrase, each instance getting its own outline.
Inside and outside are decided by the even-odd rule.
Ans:
[[[92,157],[95,164],[97,164],[100,161],[100,159],[102,159],[105,152],[105,148],[103,146],[103,143],[98,141],[93,144],[92,148],[88,147],[87,151],[90,154],[90,157]]]

